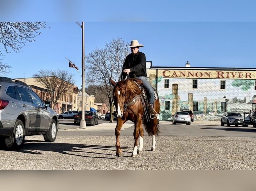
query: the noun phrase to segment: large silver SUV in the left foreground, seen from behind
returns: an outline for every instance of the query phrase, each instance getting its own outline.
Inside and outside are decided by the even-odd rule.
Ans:
[[[0,141],[7,149],[20,149],[25,136],[56,139],[58,118],[25,83],[0,77]]]

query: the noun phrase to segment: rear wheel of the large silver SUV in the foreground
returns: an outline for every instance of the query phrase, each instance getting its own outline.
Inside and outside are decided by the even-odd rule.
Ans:
[[[19,150],[25,140],[25,128],[21,120],[17,119],[14,125],[13,135],[4,140],[8,149]]]

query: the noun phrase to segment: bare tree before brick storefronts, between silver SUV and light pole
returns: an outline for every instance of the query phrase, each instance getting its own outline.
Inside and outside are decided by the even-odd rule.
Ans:
[[[33,75],[46,90],[53,103],[53,110],[58,99],[67,93],[73,93],[75,84],[74,75],[65,70],[48,71],[40,70]],[[72,90],[72,92],[70,92]]]

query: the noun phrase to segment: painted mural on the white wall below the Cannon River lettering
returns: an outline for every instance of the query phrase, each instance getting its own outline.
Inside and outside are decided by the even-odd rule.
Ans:
[[[235,76],[233,72],[226,72],[226,76]],[[210,77],[210,73],[208,76]],[[247,72],[237,75],[238,79],[227,79],[222,73],[218,73],[221,79],[193,78],[197,79],[197,89],[193,89],[191,78],[165,78],[151,75],[151,84],[157,87],[160,98],[160,120],[170,120],[176,111],[182,109],[193,110],[193,103],[197,103],[197,111],[194,111],[195,120],[220,120],[223,114],[222,105],[226,104],[227,111],[248,112],[252,103],[256,103],[255,80],[245,77],[255,76]],[[222,76],[221,76],[222,75]],[[150,76],[150,75],[149,75]],[[223,78],[222,78],[223,77]],[[169,88],[164,88],[164,80],[169,80]],[[220,89],[220,81],[225,80],[225,89]],[[168,104],[166,104],[168,102]]]

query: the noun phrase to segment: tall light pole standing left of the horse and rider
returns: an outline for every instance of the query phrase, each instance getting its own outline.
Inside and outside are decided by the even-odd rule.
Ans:
[[[85,122],[85,45],[84,45],[84,22],[82,26],[76,22],[82,28],[82,119],[80,121],[79,128],[86,128]]]

